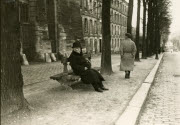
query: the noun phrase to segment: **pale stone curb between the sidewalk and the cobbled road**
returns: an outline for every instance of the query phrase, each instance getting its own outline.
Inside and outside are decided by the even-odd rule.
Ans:
[[[130,100],[124,112],[121,114],[121,116],[119,116],[119,118],[115,122],[115,125],[136,125],[140,112],[145,104],[151,85],[154,81],[156,72],[163,58],[163,55],[164,53],[160,55],[160,58],[157,61],[156,65],[153,67],[149,75],[146,77],[145,81],[137,90],[133,98]]]

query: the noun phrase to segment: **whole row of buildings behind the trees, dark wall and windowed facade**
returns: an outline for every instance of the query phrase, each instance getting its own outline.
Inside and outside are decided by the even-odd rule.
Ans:
[[[111,48],[119,51],[127,25],[128,3],[111,0]],[[44,58],[51,53],[48,40],[47,0],[20,0],[22,50],[28,60]],[[101,0],[56,0],[55,13],[58,24],[59,51],[70,51],[76,37],[83,38],[82,45],[93,53],[101,52]]]

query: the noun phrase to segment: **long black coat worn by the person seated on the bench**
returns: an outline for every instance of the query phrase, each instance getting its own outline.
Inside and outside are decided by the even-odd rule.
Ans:
[[[104,81],[104,78],[98,71],[91,69],[91,63],[87,61],[82,54],[73,51],[68,60],[73,72],[79,75],[85,84]],[[85,70],[85,67],[88,69]]]

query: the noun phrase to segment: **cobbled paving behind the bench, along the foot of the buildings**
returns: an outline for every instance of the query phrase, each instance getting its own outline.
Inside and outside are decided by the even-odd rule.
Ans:
[[[120,58],[119,54],[112,55],[112,60],[115,60],[112,63],[119,62],[116,58]],[[95,55],[92,58],[92,66],[100,66],[100,56]],[[63,72],[63,65],[60,61],[22,66],[24,85],[45,82],[50,76],[61,72]]]

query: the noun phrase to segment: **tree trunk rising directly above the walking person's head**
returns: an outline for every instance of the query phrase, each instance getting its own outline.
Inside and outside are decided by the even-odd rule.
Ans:
[[[131,33],[131,34],[132,34],[133,4],[134,4],[134,0],[129,0],[128,19],[127,19],[127,33]]]

